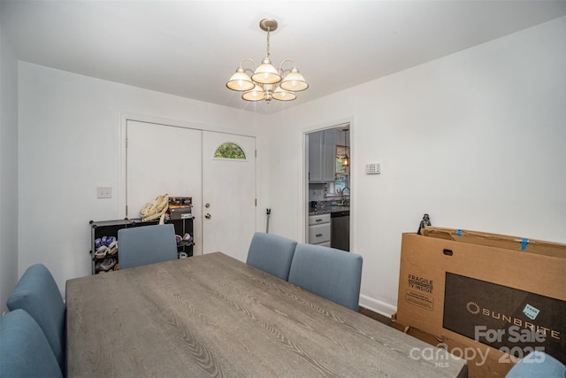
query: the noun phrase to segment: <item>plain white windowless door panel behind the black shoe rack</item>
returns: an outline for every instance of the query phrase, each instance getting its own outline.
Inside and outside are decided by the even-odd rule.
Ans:
[[[195,247],[202,254],[202,131],[128,120],[126,123],[126,217],[168,193],[193,197]]]

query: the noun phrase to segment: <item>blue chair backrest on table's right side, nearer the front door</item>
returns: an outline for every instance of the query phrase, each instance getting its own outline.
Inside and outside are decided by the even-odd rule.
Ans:
[[[287,281],[297,242],[286,237],[256,232],[249,244],[246,263]]]

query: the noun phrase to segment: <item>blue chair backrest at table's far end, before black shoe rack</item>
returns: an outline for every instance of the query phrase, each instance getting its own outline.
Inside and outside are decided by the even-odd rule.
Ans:
[[[175,228],[166,224],[119,229],[118,258],[120,269],[176,259]]]

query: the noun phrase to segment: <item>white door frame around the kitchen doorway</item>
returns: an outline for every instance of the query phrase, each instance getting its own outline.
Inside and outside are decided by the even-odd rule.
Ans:
[[[340,127],[344,124],[349,124],[349,142],[350,142],[350,161],[356,161],[356,133],[355,133],[355,120],[354,116],[342,118],[338,120],[327,121],[324,124],[311,125],[302,128],[301,145],[302,145],[302,186],[300,193],[300,203],[302,214],[302,243],[309,243],[309,141],[308,134],[316,133],[317,131],[328,130],[331,128]],[[349,174],[349,189],[350,189],[350,208],[356,212],[356,188],[357,188],[357,174],[356,169],[350,165]],[[356,251],[356,217],[350,217],[350,251]]]

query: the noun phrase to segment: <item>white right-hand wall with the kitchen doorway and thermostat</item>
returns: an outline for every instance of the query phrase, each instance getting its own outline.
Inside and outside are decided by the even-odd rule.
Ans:
[[[363,305],[394,312],[402,233],[424,212],[433,226],[566,243],[565,32],[562,17],[279,112],[272,232],[304,240],[302,134],[351,120]]]

